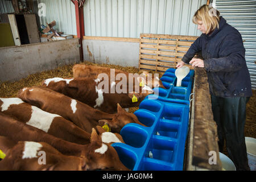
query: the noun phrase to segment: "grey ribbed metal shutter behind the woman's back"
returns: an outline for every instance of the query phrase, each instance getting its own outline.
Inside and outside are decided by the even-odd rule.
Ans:
[[[256,1],[217,0],[217,10],[227,23],[240,31],[245,46],[245,59],[256,89]]]

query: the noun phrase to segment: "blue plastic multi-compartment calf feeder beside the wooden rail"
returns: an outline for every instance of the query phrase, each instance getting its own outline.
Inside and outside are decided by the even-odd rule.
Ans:
[[[159,95],[147,96],[134,112],[145,126],[129,123],[122,128],[120,134],[125,143],[112,146],[127,168],[133,171],[183,170],[193,73],[190,71],[177,88],[174,86],[175,69],[168,69],[160,78],[166,89],[159,88]]]

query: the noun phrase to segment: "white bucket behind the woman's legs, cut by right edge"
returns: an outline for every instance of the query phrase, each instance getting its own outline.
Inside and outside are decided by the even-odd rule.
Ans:
[[[256,171],[256,139],[245,137],[248,164],[251,171]]]

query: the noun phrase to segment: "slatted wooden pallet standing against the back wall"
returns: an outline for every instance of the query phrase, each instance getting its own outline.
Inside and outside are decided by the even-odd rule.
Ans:
[[[165,72],[175,68],[196,39],[197,36],[141,34],[139,69]]]

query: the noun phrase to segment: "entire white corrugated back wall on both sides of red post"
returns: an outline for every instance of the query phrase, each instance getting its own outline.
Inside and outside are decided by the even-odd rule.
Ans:
[[[46,4],[39,23],[56,20],[55,29],[76,35],[75,6],[70,0],[35,0]],[[139,38],[141,33],[199,36],[192,23],[207,0],[86,0],[85,35]],[[2,4],[1,4],[2,3]],[[11,1],[0,0],[1,13],[12,13]]]

